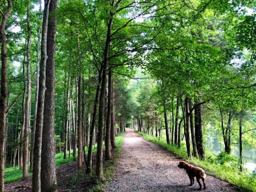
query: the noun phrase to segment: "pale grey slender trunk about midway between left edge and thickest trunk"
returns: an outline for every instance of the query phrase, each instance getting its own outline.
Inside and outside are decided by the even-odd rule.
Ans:
[[[30,27],[30,1],[27,6],[27,100],[26,100],[26,118],[24,130],[24,153],[23,153],[23,179],[28,177],[29,163],[29,132],[30,132],[30,102],[31,102],[31,74],[30,74],[30,45],[31,45],[31,27]]]

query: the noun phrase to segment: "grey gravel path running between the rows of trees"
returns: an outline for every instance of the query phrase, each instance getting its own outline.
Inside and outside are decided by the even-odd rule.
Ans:
[[[189,178],[177,164],[181,160],[163,147],[145,141],[131,129],[126,129],[122,155],[116,167],[116,177],[105,191],[196,191],[188,187]],[[241,191],[216,178],[206,176],[203,191]]]

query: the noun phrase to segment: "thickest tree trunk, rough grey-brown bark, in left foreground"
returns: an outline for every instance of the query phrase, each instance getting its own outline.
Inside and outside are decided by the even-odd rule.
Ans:
[[[57,27],[57,0],[52,0],[49,6],[47,55],[46,62],[46,92],[44,108],[44,125],[42,128],[42,161],[41,161],[41,191],[56,191],[55,171],[55,140],[54,140],[54,94],[55,94],[55,36]]]

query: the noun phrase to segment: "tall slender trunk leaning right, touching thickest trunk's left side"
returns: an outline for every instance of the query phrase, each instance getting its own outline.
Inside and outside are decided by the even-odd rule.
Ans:
[[[41,37],[41,60],[39,72],[39,94],[38,106],[36,113],[36,129],[34,143],[34,159],[33,159],[33,192],[41,191],[40,172],[41,172],[41,146],[42,146],[42,126],[44,122],[44,107],[45,107],[45,91],[46,91],[46,60],[47,60],[47,30],[48,30],[48,15],[49,1],[45,1],[44,18],[42,20],[42,37]]]

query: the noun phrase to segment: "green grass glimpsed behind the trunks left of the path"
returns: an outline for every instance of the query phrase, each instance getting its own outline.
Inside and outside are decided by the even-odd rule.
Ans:
[[[103,146],[104,146],[104,143],[103,143]],[[93,153],[95,153],[96,150],[97,150],[97,144],[95,144],[93,146]],[[88,147],[86,147],[86,153],[87,152],[88,152]],[[70,157],[69,157],[69,154],[67,154],[67,159],[63,159],[63,156],[64,156],[63,152],[55,155],[56,167],[73,161],[73,159],[74,159],[73,158],[73,150],[71,150]],[[28,176],[32,177],[32,173],[28,173]],[[22,179],[22,170],[19,170],[18,166],[5,168],[5,183],[11,183],[11,182],[14,182],[14,181],[17,181],[20,179]]]

